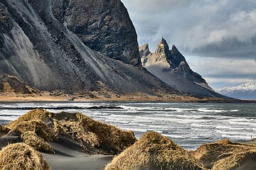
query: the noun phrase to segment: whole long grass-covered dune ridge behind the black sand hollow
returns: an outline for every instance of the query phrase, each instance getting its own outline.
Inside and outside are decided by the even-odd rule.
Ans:
[[[23,142],[46,152],[53,151],[47,142],[58,140],[59,135],[73,138],[85,152],[88,151],[88,145],[95,148],[92,154],[119,154],[137,141],[132,131],[97,122],[82,113],[49,113],[36,109],[7,127],[11,132],[20,132]]]

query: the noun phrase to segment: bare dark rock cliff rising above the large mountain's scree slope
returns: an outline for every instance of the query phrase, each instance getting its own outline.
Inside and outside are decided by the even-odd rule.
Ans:
[[[141,66],[137,33],[121,1],[55,0],[53,14],[92,50]]]

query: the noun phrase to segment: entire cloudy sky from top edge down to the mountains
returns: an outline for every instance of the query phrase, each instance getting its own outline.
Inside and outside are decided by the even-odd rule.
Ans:
[[[139,45],[164,37],[213,89],[256,82],[256,0],[122,0]]]

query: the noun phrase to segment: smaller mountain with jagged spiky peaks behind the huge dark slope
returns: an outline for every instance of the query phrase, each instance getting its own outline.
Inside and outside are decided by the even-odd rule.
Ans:
[[[201,75],[191,70],[175,45],[170,50],[164,38],[155,52],[150,52],[149,45],[145,44],[139,47],[139,53],[142,66],[174,89],[197,96],[224,97],[213,91]]]

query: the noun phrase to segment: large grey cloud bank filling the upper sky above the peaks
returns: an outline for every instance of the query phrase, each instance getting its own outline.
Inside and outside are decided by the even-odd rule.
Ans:
[[[252,0],[122,0],[139,44],[161,37],[185,55],[256,60],[256,3]]]

